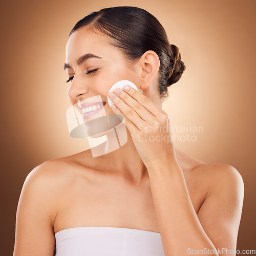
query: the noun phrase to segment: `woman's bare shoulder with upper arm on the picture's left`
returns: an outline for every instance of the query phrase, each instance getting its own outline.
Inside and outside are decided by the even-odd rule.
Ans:
[[[68,166],[65,159],[49,160],[27,175],[18,200],[13,255],[53,255],[58,202],[72,182]]]

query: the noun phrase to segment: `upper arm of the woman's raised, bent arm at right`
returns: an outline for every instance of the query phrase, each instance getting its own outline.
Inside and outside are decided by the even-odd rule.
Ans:
[[[221,255],[236,255],[244,198],[243,179],[230,165],[215,164],[211,168],[212,187],[197,216],[216,249],[224,250]]]

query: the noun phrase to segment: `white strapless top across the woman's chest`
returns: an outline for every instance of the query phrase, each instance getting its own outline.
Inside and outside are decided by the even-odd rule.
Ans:
[[[164,256],[160,233],[132,228],[67,228],[55,242],[55,256]]]

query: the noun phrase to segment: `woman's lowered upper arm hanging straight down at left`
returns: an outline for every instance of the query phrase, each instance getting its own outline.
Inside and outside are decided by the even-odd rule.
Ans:
[[[13,256],[53,255],[53,184],[49,164],[35,167],[26,177],[20,193]]]

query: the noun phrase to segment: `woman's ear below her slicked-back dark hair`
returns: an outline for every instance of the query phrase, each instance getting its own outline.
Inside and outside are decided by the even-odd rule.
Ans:
[[[154,51],[146,51],[143,53],[139,60],[141,72],[141,89],[146,90],[150,87],[152,81],[156,77],[160,67],[160,60],[156,52]]]

